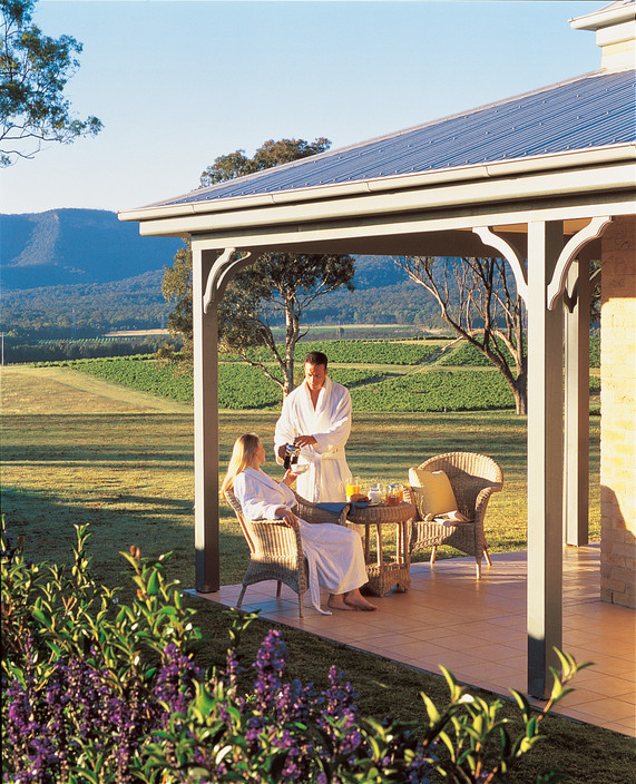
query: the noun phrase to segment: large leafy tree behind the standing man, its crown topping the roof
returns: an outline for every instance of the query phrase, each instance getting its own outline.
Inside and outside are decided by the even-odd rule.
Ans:
[[[324,137],[265,141],[248,158],[245,150],[217,157],[200,176],[207,187],[235,177],[323,153],[330,147]],[[258,367],[274,380],[283,395],[294,389],[294,350],[306,334],[302,325],[305,308],[316,298],[346,287],[353,291],[354,259],[346,255],[264,253],[231,281],[219,305],[219,343],[243,362]],[[175,310],[168,329],[192,350],[192,252],[189,243],[165,267],[163,294]],[[284,342],[275,340],[275,327],[284,325]],[[264,349],[263,351],[258,351]]]

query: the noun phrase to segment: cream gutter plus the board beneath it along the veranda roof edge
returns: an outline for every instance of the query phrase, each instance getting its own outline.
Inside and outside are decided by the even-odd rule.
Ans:
[[[241,228],[395,214],[462,205],[485,205],[634,189],[636,145],[578,151],[546,159],[501,161],[453,173],[382,178],[306,188],[302,193],[227,199],[133,210],[119,215],[139,220],[148,236],[183,236]],[[525,166],[520,166],[520,164]],[[556,165],[556,164],[559,165]],[[565,165],[567,163],[567,166]],[[228,206],[232,202],[232,207]]]

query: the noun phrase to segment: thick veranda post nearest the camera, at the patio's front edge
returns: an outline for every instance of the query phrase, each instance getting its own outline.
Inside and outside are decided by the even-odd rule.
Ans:
[[[528,693],[546,698],[562,636],[562,324],[547,286],[560,222],[528,225]]]

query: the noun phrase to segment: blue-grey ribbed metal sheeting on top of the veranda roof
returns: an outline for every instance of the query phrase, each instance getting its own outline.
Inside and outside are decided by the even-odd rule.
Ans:
[[[594,72],[153,206],[346,184],[636,140],[635,71]]]

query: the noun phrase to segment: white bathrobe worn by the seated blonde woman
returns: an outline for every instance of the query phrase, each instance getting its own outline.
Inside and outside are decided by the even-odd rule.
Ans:
[[[234,494],[248,520],[272,520],[276,509],[292,509],[294,493],[278,484],[261,469],[246,468],[234,480]],[[309,523],[299,519],[303,552],[309,564],[312,605],[320,606],[320,587],[330,594],[346,594],[368,581],[362,539],[351,528],[331,522]]]

